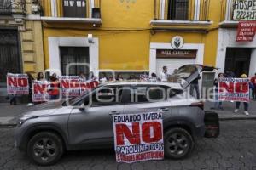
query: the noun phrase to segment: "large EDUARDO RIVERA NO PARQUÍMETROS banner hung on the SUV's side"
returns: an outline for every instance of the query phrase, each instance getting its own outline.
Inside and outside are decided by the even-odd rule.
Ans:
[[[164,159],[161,112],[113,115],[113,133],[118,162]]]

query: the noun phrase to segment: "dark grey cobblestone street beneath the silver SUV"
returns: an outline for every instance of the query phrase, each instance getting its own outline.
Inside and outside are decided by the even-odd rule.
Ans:
[[[0,128],[0,169],[256,169],[256,121],[221,122],[218,139],[203,139],[183,161],[116,163],[112,150],[67,152],[55,166],[37,167],[14,146],[14,128]]]

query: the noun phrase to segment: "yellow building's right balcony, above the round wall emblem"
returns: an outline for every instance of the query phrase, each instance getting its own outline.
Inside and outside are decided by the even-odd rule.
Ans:
[[[152,26],[210,26],[210,0],[154,0]]]

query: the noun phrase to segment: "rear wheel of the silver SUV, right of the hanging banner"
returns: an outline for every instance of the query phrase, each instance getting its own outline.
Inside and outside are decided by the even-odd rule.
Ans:
[[[165,156],[171,159],[183,159],[194,149],[194,139],[183,128],[171,128],[164,134]]]

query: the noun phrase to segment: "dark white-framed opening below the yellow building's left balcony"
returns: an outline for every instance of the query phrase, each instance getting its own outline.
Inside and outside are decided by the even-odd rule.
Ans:
[[[84,64],[89,64],[89,48],[88,47],[61,47],[61,71],[62,75],[79,76],[84,73],[85,77],[89,77],[89,68]],[[69,67],[67,74],[67,65]]]

